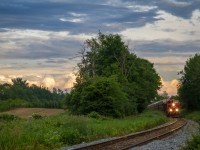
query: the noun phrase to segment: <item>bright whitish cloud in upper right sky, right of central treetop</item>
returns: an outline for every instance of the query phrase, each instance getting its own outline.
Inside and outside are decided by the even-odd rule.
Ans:
[[[170,39],[182,42],[199,40],[200,19],[197,19],[200,18],[199,10],[194,11],[189,20],[173,16],[165,11],[158,11],[156,18],[160,18],[160,20],[154,22],[154,24],[129,28],[120,32],[120,34],[128,39],[141,41]],[[192,31],[195,32],[191,34]]]

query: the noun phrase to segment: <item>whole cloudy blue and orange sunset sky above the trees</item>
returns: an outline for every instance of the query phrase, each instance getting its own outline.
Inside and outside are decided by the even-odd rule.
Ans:
[[[186,60],[200,52],[200,0],[1,0],[0,84],[70,89],[86,39],[119,34],[154,63],[162,89],[176,95]]]

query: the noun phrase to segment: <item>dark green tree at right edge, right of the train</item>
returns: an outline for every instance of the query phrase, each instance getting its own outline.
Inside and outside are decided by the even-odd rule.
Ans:
[[[200,110],[200,54],[189,58],[180,74],[180,100],[187,110]]]

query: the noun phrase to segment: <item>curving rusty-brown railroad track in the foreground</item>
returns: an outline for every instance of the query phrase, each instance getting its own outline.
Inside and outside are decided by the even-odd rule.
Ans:
[[[135,146],[143,145],[155,139],[168,136],[186,125],[185,119],[175,119],[173,122],[149,129],[146,131],[117,137],[108,141],[78,146],[69,150],[127,150]],[[66,149],[67,150],[67,149]]]

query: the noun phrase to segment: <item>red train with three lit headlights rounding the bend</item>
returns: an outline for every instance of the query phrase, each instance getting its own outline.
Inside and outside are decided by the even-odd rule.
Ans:
[[[180,101],[175,99],[161,100],[150,104],[148,108],[164,111],[168,117],[180,117],[181,115]]]

